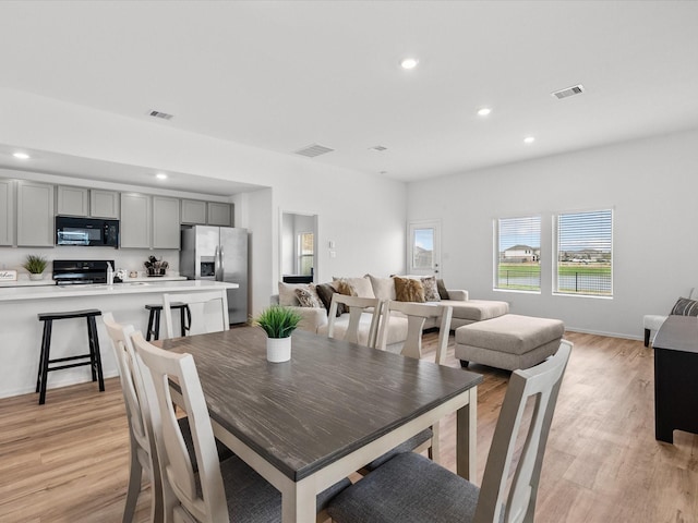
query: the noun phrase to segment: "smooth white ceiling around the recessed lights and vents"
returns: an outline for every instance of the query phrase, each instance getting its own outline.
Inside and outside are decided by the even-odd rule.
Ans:
[[[2,1],[0,35],[0,86],[402,181],[698,126],[696,1]]]

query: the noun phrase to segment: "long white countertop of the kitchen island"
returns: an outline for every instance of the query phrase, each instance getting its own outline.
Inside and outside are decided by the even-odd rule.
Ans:
[[[171,280],[170,278],[178,278]],[[134,281],[135,280],[135,281]],[[124,283],[89,285],[25,285],[0,289],[0,302],[46,300],[53,297],[109,296],[155,292],[206,291],[216,288],[237,289],[237,283],[210,280],[186,280],[183,277],[129,278]]]

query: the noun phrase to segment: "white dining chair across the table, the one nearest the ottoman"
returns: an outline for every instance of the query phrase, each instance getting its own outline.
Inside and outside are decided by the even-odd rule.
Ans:
[[[450,305],[386,300],[383,304],[377,348],[385,351],[390,321],[396,321],[397,318],[400,318],[401,320],[401,318],[407,317],[407,339],[402,345],[401,354],[404,356],[421,360],[422,331],[424,329],[424,323],[429,318],[435,318],[440,326],[435,360],[436,363],[441,365],[446,360],[452,316],[453,307]],[[422,430],[389,452],[376,458],[369,463],[362,472],[372,471],[394,455],[408,451],[422,452],[423,450],[426,450],[429,452],[429,457],[438,463],[441,461],[440,434],[440,424],[437,422],[432,425],[431,428]]]

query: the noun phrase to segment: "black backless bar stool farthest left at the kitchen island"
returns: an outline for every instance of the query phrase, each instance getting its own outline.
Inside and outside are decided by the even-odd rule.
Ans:
[[[41,355],[39,356],[39,372],[36,378],[36,392],[39,392],[39,405],[46,403],[46,382],[48,373],[52,370],[62,370],[64,368],[79,367],[81,365],[89,365],[92,369],[92,380],[99,381],[99,391],[105,390],[105,378],[101,373],[101,355],[99,354],[99,338],[97,337],[96,316],[101,316],[101,311],[97,308],[88,308],[85,311],[69,311],[65,313],[44,313],[37,315],[39,321],[44,321],[44,336],[41,338]],[[57,357],[51,360],[51,329],[55,319],[85,318],[87,320],[87,341],[89,343],[89,354],[80,356]],[[73,362],[83,360],[77,363],[69,363],[65,365],[49,366],[55,363]],[[87,361],[84,361],[87,360]]]

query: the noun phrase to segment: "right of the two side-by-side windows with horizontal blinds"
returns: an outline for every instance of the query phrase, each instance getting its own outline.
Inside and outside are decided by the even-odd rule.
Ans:
[[[554,292],[613,295],[612,210],[557,215],[555,246]]]

